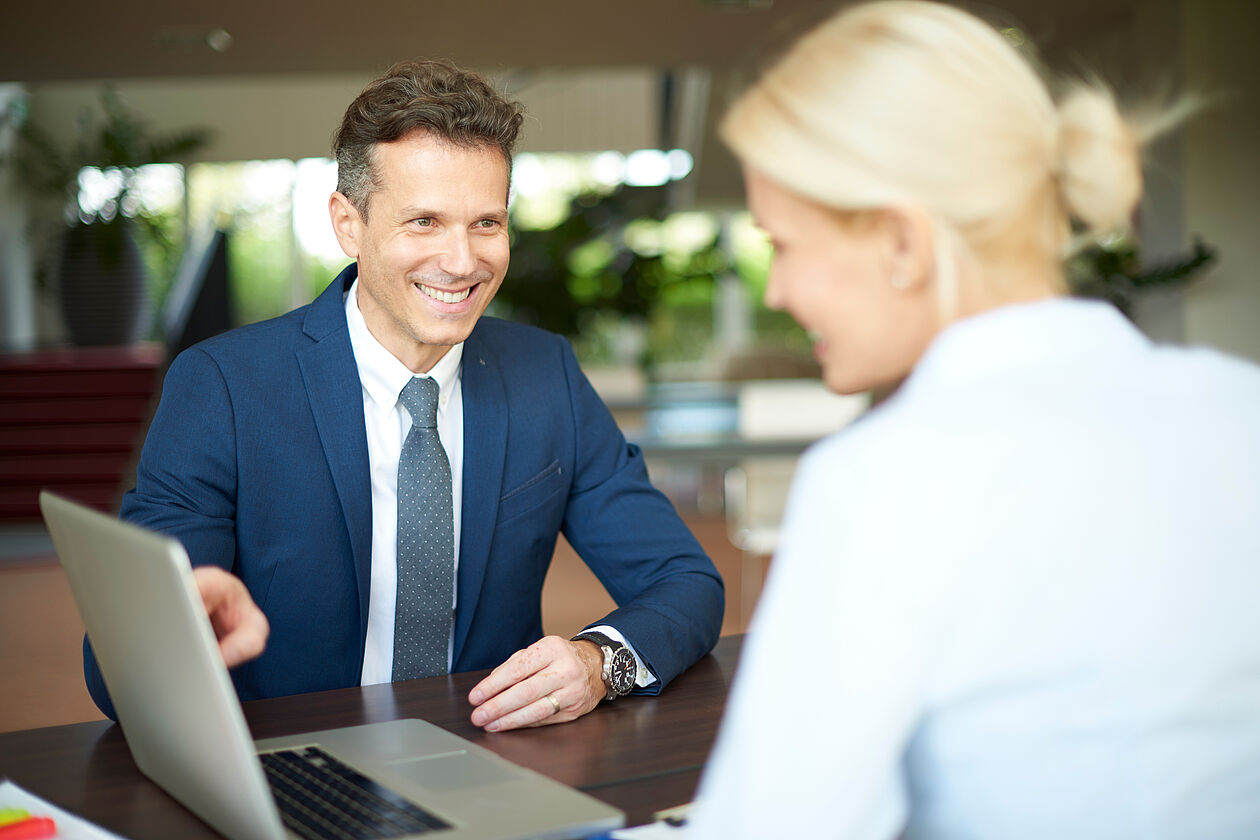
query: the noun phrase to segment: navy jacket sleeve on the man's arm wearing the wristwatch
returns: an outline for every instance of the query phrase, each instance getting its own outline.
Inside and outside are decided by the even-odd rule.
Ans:
[[[577,437],[563,533],[617,603],[591,623],[634,645],[659,680],[636,691],[656,694],[717,644],[722,578],[558,340]]]

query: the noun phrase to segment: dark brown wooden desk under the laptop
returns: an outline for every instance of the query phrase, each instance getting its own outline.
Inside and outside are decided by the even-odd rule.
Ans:
[[[246,703],[255,738],[423,718],[626,812],[626,824],[692,798],[726,704],[741,636],[722,639],[655,698],[631,696],[573,723],[485,733],[467,693],[484,673]],[[134,840],[218,837],[141,776],[108,722],[0,733],[0,778]]]

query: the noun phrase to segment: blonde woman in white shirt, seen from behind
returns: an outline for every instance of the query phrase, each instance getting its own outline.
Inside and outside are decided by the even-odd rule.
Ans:
[[[801,461],[698,837],[1260,836],[1260,370],[1065,297],[1153,127],[931,3],[727,115],[766,302],[896,393]]]

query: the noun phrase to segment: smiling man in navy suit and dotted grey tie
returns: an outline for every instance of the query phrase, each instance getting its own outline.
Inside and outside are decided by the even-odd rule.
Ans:
[[[476,74],[391,68],[334,139],[355,262],[170,366],[122,516],[183,540],[242,699],[494,669],[471,719],[512,729],[654,694],[717,640],[721,578],[568,344],[483,317],[520,122]],[[572,640],[542,632],[561,533],[619,604]]]

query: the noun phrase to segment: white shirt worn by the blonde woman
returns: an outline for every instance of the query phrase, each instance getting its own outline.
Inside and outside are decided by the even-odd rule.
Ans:
[[[1260,836],[1260,372],[964,320],[803,458],[693,837]]]

